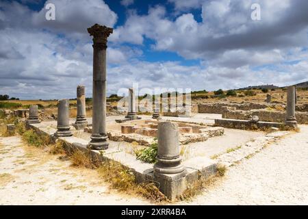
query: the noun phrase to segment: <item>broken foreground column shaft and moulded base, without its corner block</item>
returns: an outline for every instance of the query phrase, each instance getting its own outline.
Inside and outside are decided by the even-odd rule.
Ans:
[[[157,138],[157,163],[154,165],[154,174],[184,172],[185,168],[181,165],[178,125],[171,122],[159,123]]]

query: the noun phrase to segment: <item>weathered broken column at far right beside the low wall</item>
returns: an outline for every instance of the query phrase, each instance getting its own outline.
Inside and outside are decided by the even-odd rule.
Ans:
[[[296,86],[287,87],[287,115],[285,119],[285,125],[290,127],[297,127],[297,121],[295,116],[296,106]]]

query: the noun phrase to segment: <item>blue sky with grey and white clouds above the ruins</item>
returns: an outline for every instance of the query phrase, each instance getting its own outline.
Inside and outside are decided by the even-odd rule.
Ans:
[[[55,5],[55,21],[44,8]],[[251,19],[251,5],[261,19]],[[18,0],[0,2],[0,93],[21,99],[92,95],[94,23],[108,38],[107,94],[138,83],[218,90],[308,81],[308,1]]]

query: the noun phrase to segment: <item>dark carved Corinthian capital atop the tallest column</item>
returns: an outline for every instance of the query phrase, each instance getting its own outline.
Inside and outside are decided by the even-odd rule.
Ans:
[[[93,36],[93,42],[95,44],[103,44],[107,46],[107,38],[112,34],[114,29],[102,25],[94,24],[88,28],[88,33]]]

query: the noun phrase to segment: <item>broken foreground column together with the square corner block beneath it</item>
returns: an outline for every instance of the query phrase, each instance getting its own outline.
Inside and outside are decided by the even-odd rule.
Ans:
[[[170,199],[175,199],[185,188],[186,169],[181,165],[179,129],[176,123],[158,124],[157,162],[154,165],[154,179],[159,190]]]

